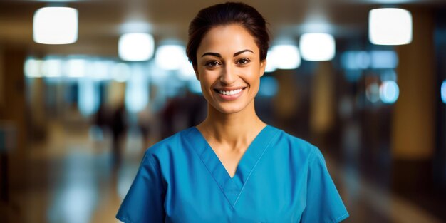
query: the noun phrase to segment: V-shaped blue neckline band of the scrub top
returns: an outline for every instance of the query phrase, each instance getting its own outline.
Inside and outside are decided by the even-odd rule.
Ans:
[[[273,127],[266,125],[256,135],[242,155],[234,177],[231,177],[198,128],[191,128],[191,135],[188,135],[187,142],[191,143],[191,147],[197,152],[197,155],[207,167],[209,173],[212,175],[215,182],[217,182],[217,185],[227,197],[227,200],[232,207],[237,203],[244,185],[249,180],[249,175],[251,175],[251,172],[261,159],[261,156],[269,147],[273,138],[273,135],[271,134],[273,130]]]

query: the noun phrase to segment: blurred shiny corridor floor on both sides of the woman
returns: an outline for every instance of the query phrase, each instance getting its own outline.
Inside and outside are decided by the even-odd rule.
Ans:
[[[118,222],[115,213],[145,147],[140,135],[128,134],[123,140],[123,158],[116,166],[107,135],[93,137],[88,125],[50,126],[48,141],[31,145],[26,154],[26,184],[10,188],[9,204],[1,204],[5,222]],[[355,167],[328,156],[326,161],[351,215],[345,222],[441,222],[417,204],[368,182]]]

